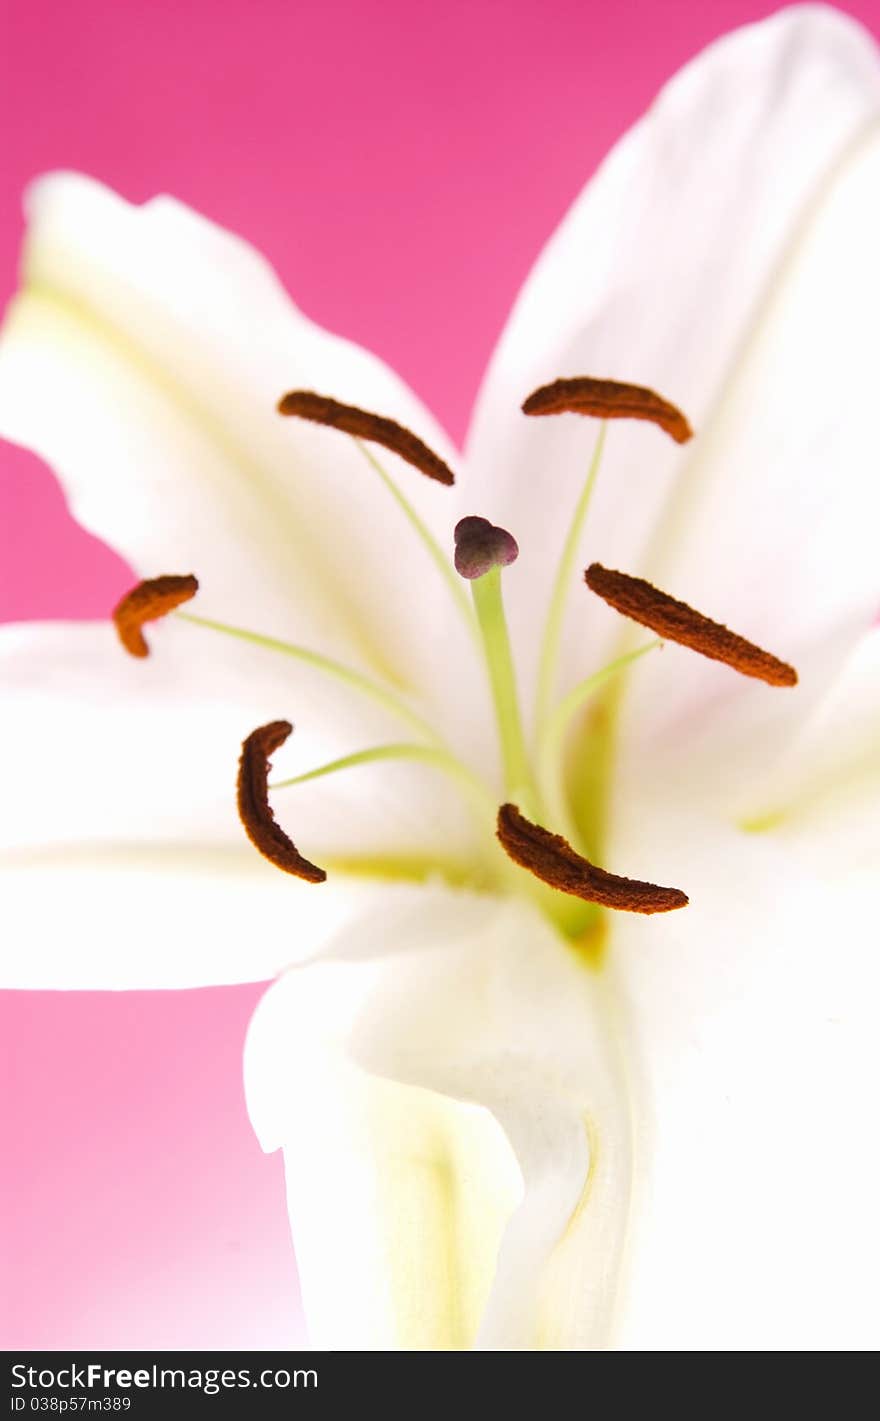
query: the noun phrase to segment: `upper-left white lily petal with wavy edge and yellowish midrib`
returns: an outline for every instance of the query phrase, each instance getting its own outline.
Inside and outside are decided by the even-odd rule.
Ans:
[[[347,436],[274,408],[289,388],[331,394],[454,462],[415,396],[303,317],[246,243],[169,198],[136,207],[55,175],[28,216],[0,432],[48,460],[75,517],[141,576],[195,571],[208,614],[355,657],[466,720],[448,682],[472,647],[424,546]],[[451,549],[455,496],[394,475]]]

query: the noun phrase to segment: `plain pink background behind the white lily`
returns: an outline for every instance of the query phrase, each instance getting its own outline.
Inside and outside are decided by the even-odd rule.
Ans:
[[[0,296],[20,195],[80,168],[243,233],[458,438],[510,300],[608,145],[751,0],[6,0]],[[880,31],[880,0],[846,9]],[[127,585],[0,449],[0,618]],[[38,767],[37,767],[38,773]],[[281,1167],[245,1113],[262,988],[4,993],[6,1347],[301,1339]]]

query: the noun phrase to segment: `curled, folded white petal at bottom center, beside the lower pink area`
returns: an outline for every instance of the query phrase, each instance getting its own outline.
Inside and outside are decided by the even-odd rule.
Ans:
[[[360,922],[264,998],[246,1086],[318,1346],[603,1341],[626,1101],[596,979],[530,909],[438,894]]]

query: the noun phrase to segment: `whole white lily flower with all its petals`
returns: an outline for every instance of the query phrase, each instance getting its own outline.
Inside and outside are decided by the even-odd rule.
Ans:
[[[6,980],[281,973],[246,1083],[317,1346],[877,1343],[879,193],[856,24],[809,6],[712,45],[540,257],[463,459],[236,237],[74,175],[30,193],[0,432],[141,576],[200,591],[149,661],[107,624],[6,632]],[[520,412],[586,375],[695,439]],[[281,419],[291,389],[397,421],[455,487]],[[471,514],[520,553],[476,618]],[[653,649],[584,587],[596,558],[798,686]],[[326,882],[230,801],[279,716],[277,780],[353,757],[273,793]],[[546,887],[536,824],[576,878],[589,855],[689,905]]]

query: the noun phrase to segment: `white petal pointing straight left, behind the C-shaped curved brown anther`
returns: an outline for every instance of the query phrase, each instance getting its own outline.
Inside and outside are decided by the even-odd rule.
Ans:
[[[264,864],[236,814],[243,736],[306,701],[307,728],[276,757],[281,777],[350,749],[353,736],[382,740],[399,728],[260,648],[173,620],[151,638],[144,662],[107,624],[0,635],[4,986],[263,980],[317,951],[374,892],[392,892],[380,887],[385,874],[475,871],[461,794],[417,763],[276,791],[279,821],[330,855],[331,878],[300,884]]]

